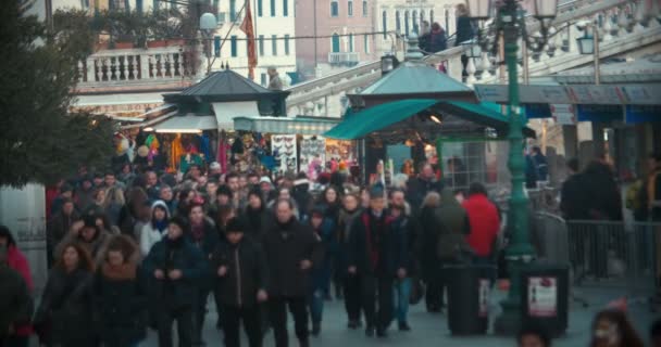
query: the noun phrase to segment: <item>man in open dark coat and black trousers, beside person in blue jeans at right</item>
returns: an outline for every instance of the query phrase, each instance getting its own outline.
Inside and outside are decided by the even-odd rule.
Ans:
[[[392,319],[395,278],[407,277],[407,242],[384,205],[384,191],[377,184],[370,191],[370,208],[353,221],[348,252],[349,273],[362,278],[365,334],[374,336],[376,330],[379,337],[386,336]]]

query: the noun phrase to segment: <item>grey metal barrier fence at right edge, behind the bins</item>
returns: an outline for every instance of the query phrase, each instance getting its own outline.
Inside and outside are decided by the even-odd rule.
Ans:
[[[538,213],[532,226],[539,257],[570,264],[574,286],[652,297],[661,265],[661,222],[565,221]]]

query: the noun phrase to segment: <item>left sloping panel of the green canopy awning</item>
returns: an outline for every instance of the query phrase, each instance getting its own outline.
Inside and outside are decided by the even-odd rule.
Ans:
[[[351,117],[326,131],[324,136],[339,140],[359,139],[404,120],[437,103],[438,101],[431,99],[412,99],[376,105],[352,113]]]

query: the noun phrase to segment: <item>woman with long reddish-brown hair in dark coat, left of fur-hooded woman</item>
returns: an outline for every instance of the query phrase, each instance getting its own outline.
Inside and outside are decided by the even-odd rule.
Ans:
[[[79,243],[63,244],[59,250],[34,318],[39,344],[95,347],[98,345],[92,323],[95,264]]]

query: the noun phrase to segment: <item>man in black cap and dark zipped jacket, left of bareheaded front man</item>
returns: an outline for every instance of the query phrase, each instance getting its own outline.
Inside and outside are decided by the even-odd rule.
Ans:
[[[266,258],[259,243],[246,237],[247,226],[230,218],[225,227],[226,243],[221,243],[211,256],[211,266],[220,281],[214,292],[223,312],[225,346],[239,346],[239,323],[242,321],[250,347],[262,346],[260,303],[266,294]]]

